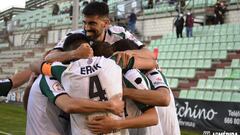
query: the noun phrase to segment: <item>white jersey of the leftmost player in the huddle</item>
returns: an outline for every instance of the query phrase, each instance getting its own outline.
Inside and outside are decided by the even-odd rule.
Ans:
[[[69,121],[59,117],[62,111],[52,104],[40,89],[42,75],[31,87],[27,107],[26,135],[69,135]],[[56,80],[45,78],[45,85],[52,88]],[[59,83],[58,83],[59,84]]]

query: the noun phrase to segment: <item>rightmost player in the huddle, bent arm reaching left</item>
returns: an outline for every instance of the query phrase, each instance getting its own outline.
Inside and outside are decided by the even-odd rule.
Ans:
[[[102,48],[100,45],[92,46],[93,50],[98,50]],[[124,51],[137,49],[137,45],[129,40],[120,40],[114,43],[111,47],[106,47],[105,50],[112,49],[115,51]],[[98,55],[95,54],[94,55]],[[109,55],[109,54],[106,54]],[[167,80],[163,73],[158,69],[152,69],[149,71],[145,71],[147,77],[149,78],[153,91],[139,91],[137,89],[132,88],[124,88],[124,97],[128,97],[130,99],[139,101],[141,103],[156,105],[159,114],[159,124],[161,126],[161,132],[163,135],[180,135],[180,128],[176,114],[176,107],[174,96],[170,87],[168,86]],[[103,121],[100,121],[101,123]],[[110,121],[104,121],[104,123],[111,123]],[[104,124],[102,129],[111,127],[109,125]],[[152,130],[152,133],[161,135],[161,132],[155,132],[156,130]]]

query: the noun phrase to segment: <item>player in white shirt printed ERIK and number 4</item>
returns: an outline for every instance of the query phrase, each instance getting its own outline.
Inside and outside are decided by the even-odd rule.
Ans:
[[[72,42],[73,43],[71,46],[75,46],[73,44],[76,42]],[[80,44],[83,44],[82,46],[84,46],[84,43]],[[104,57],[80,59],[71,62],[68,68],[66,65],[60,63],[55,64],[57,65],[53,64],[51,70],[47,69],[44,64],[43,73],[46,73],[45,71],[51,71],[53,76],[63,84],[63,87],[66,89],[66,91],[63,91],[63,89],[57,89],[56,92],[56,90],[52,91],[49,88],[42,87],[42,84],[46,84],[46,79],[44,78],[40,81],[40,88],[42,91],[45,91],[44,94],[47,97],[50,97],[50,100],[53,103],[63,110],[65,107],[71,106],[71,103],[74,103],[69,102],[70,96],[72,98],[85,98],[93,101],[106,102],[107,100],[111,100],[112,97],[115,97],[115,95],[122,94],[122,71],[121,68],[111,59],[106,59]],[[110,76],[108,76],[109,73],[113,75],[114,78],[110,78]],[[62,95],[63,92],[64,95]],[[86,107],[92,108],[91,105],[86,105]],[[120,117],[110,113],[109,111],[105,113],[98,112],[96,114],[75,113],[76,112],[71,112],[70,116],[72,134],[76,135],[91,134],[85,126],[85,119],[91,119],[91,115],[109,115],[120,119]],[[121,130],[121,134],[127,134],[126,130]]]

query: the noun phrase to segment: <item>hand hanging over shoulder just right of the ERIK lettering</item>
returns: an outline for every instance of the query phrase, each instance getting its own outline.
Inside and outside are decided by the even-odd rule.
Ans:
[[[118,51],[115,52],[113,55],[117,56],[116,63],[122,68],[126,68],[129,60],[133,57],[131,51]]]

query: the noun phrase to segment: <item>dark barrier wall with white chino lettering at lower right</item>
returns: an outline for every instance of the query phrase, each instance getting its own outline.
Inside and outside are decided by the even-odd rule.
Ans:
[[[176,107],[181,127],[240,133],[240,103],[176,99]]]

